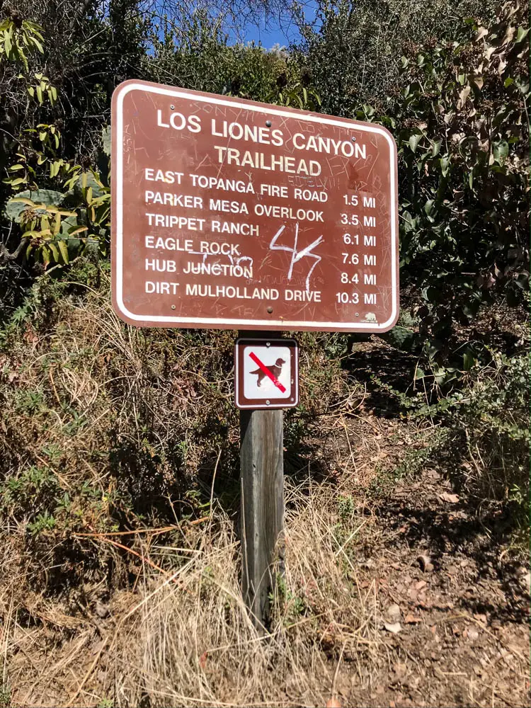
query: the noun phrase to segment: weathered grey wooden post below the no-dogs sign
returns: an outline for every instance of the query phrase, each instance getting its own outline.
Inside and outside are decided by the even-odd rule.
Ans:
[[[241,587],[254,626],[265,630],[284,527],[283,415],[241,411]]]

